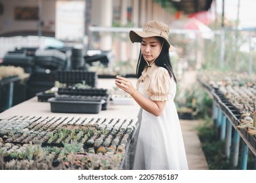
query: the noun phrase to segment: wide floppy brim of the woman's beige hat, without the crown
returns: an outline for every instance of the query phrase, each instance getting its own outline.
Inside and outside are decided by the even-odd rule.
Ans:
[[[129,36],[132,42],[141,42],[141,39],[146,37],[161,37],[157,33],[145,31],[130,31]],[[169,47],[169,52],[174,52],[175,47],[172,46],[172,44],[170,44],[170,42],[168,42],[165,37],[162,38],[164,39],[164,41],[166,41],[167,46]]]

